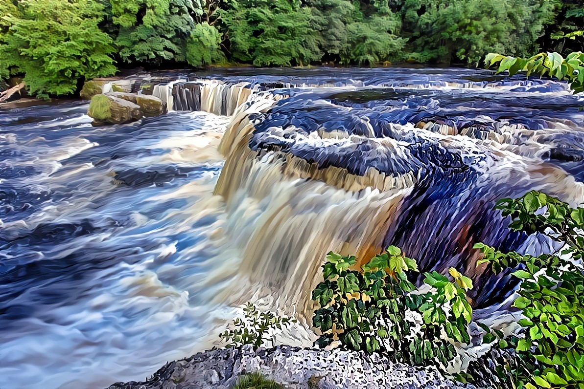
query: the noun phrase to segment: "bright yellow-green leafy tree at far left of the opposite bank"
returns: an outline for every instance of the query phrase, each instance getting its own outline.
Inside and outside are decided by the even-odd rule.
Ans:
[[[73,93],[79,79],[116,71],[100,2],[2,1],[0,15],[0,77],[23,73],[32,94]]]

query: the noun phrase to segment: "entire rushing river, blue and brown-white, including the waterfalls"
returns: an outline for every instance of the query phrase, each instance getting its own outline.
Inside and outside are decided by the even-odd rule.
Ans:
[[[92,127],[88,104],[0,110],[0,388],[99,388],[210,348],[246,300],[300,325],[330,251],[394,244],[474,277],[471,247],[538,253],[496,199],[584,201],[582,97],[463,69],[130,78],[171,111]],[[147,86],[148,87],[145,87]],[[105,89],[107,89],[107,86]],[[146,92],[150,90],[150,92]]]

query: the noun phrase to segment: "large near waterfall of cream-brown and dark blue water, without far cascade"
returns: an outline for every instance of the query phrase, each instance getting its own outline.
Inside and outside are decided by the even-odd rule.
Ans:
[[[307,135],[306,129],[280,120],[272,124],[266,112],[278,104],[273,94],[256,97],[234,114],[221,141],[226,161],[215,193],[237,219],[234,236],[238,228],[252,229],[236,239],[243,252],[238,273],[301,312],[311,307],[310,292],[328,251],[364,261],[389,245],[416,258],[422,271],[454,266],[470,275],[476,306],[501,301],[511,292],[509,272],[494,276],[485,265],[477,268],[474,243],[538,252],[526,236],[507,229],[508,222],[493,211],[495,202],[529,190],[572,205],[584,200],[582,183],[539,159],[541,145],[539,150],[523,145],[533,131],[521,124],[391,124],[384,131],[392,138],[376,138],[370,121],[360,118],[365,126],[360,135],[322,129]],[[422,143],[415,153],[412,143],[404,148],[412,136]],[[308,159],[294,154],[292,148],[302,145],[314,145],[318,152]],[[359,145],[373,145],[366,159],[390,156],[396,171],[369,167],[356,173],[318,162],[327,149],[340,152]],[[333,151],[332,156],[342,154]]]

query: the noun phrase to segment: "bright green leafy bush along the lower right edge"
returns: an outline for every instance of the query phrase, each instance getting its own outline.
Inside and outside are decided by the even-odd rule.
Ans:
[[[515,252],[501,253],[479,243],[484,258],[495,272],[517,269],[521,280],[513,305],[523,311],[519,321],[522,337],[502,339],[485,336],[485,342],[502,339],[499,345],[515,350],[507,366],[507,380],[517,388],[584,387],[584,208],[541,192],[531,191],[519,199],[502,199],[496,205],[512,222],[509,228],[528,234],[545,234],[561,243],[561,253],[539,257]],[[560,255],[557,255],[560,254]]]

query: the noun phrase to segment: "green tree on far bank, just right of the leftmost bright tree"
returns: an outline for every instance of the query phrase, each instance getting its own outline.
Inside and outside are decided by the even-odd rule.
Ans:
[[[124,62],[185,61],[193,15],[202,13],[196,0],[109,0],[116,45]]]

